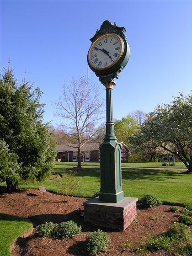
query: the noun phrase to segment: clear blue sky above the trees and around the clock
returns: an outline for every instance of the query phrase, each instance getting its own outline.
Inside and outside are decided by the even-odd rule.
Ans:
[[[62,85],[88,74],[89,39],[105,20],[126,28],[131,49],[113,87],[114,118],[191,94],[192,1],[1,0],[0,73],[9,57],[18,83],[27,69],[26,81],[43,91],[46,122],[60,122],[52,101]],[[91,69],[89,78],[100,83]]]

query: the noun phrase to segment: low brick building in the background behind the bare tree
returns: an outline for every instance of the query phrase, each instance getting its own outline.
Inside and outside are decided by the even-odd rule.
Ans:
[[[128,162],[128,147],[121,142],[122,147],[122,162]],[[85,162],[100,162],[99,143],[89,143],[82,146],[81,161]],[[77,161],[77,144],[58,145],[57,146],[57,161],[76,162]]]

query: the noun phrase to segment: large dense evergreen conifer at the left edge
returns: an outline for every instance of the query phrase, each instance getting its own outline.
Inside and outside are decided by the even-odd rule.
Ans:
[[[13,69],[0,79],[0,181],[13,190],[21,181],[46,178],[53,168],[55,147],[50,147],[48,124],[43,123],[39,88],[17,86]]]

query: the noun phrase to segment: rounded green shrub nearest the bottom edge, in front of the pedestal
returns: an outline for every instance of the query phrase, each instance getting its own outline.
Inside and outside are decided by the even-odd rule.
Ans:
[[[110,245],[110,237],[106,232],[98,229],[89,235],[85,240],[85,250],[82,251],[84,255],[98,255]]]

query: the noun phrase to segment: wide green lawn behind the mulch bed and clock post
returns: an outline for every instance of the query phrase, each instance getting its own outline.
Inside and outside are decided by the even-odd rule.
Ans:
[[[54,168],[53,179],[45,182],[29,182],[22,187],[36,188],[45,186],[47,191],[57,192],[56,181],[57,175],[63,175],[63,170],[69,173],[73,167],[71,165],[57,164]],[[99,166],[90,166],[86,163],[86,171],[78,171],[75,180],[79,179],[78,187],[73,192],[75,197],[92,197],[94,192],[100,190],[100,168]],[[99,163],[97,163],[99,164]],[[150,163],[151,164],[151,163]],[[94,163],[95,165],[95,163]],[[144,165],[144,164],[143,164]],[[143,167],[147,167],[146,165]],[[192,175],[178,174],[180,170],[168,168],[155,170],[153,168],[123,168],[122,169],[122,187],[126,197],[138,197],[139,200],[147,194],[153,193],[166,203],[171,205],[189,205],[192,204]],[[182,167],[182,166],[180,166]],[[155,168],[155,166],[154,166]]]

